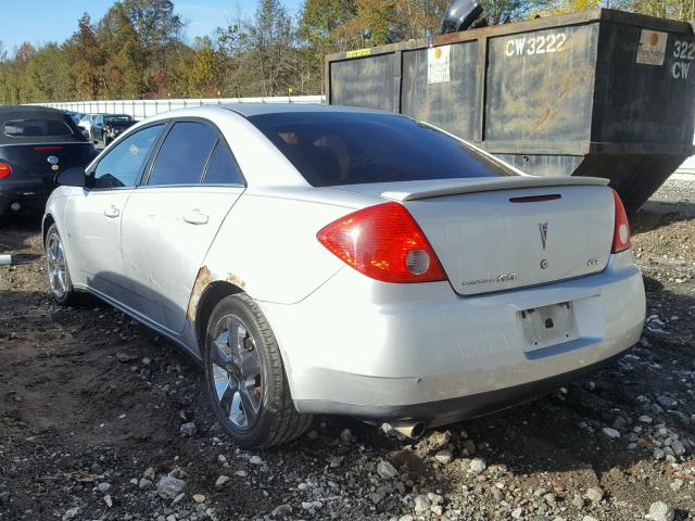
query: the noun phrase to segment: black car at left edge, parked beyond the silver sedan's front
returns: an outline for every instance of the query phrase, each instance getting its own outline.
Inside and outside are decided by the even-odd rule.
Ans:
[[[94,145],[63,111],[0,106],[0,216],[42,213],[56,174],[86,166]]]

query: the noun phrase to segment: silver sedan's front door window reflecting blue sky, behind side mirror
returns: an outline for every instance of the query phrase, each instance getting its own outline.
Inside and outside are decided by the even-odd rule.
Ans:
[[[90,174],[88,187],[94,189],[135,187],[163,128],[164,124],[143,128],[111,149]]]

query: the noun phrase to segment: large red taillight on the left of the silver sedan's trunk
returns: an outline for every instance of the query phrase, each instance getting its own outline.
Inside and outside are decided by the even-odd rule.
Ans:
[[[382,282],[446,280],[432,246],[405,207],[383,203],[353,212],[316,236],[338,258]]]

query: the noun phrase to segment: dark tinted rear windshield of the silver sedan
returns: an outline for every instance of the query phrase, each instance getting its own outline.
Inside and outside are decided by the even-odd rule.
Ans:
[[[390,114],[250,116],[314,187],[516,175],[460,141]]]

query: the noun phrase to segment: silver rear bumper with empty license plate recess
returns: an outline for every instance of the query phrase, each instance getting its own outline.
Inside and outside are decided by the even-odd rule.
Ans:
[[[577,336],[531,346],[521,310],[570,302]],[[448,283],[383,284],[345,268],[294,305],[261,303],[298,410],[430,425],[504,408],[592,371],[642,333],[630,251],[601,274],[463,297]]]

